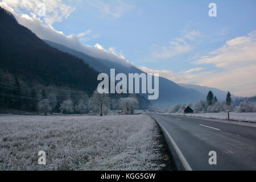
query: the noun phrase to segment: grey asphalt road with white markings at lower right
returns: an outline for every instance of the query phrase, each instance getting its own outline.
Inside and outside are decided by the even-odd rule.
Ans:
[[[178,169],[256,170],[256,123],[151,116],[164,128]],[[216,151],[217,164],[209,164],[210,151]]]

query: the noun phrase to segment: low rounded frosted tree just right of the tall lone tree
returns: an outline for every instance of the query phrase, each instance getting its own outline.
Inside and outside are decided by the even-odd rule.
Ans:
[[[119,106],[123,110],[123,114],[134,114],[134,110],[137,109],[139,102],[137,98],[126,97],[119,99]]]

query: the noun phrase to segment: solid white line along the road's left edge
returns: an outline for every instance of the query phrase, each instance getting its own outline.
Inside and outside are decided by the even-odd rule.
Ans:
[[[180,148],[177,146],[174,139],[172,139],[172,137],[168,133],[168,131],[154,117],[151,116],[151,118],[153,118],[158,123],[158,125],[161,127],[161,129],[164,131],[164,133],[166,133],[167,137],[170,139],[170,142],[172,143],[172,146],[174,146],[174,149],[175,149],[175,151],[176,151],[176,153],[177,153],[185,171],[193,171],[192,168],[190,167],[190,165],[188,164],[187,159],[185,159],[184,155],[180,151]]]

